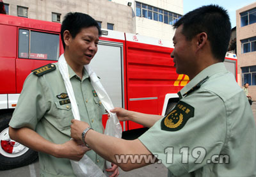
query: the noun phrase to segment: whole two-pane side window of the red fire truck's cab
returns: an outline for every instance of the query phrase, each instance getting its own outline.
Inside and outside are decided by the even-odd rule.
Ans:
[[[60,35],[19,29],[19,58],[57,60],[59,52]]]

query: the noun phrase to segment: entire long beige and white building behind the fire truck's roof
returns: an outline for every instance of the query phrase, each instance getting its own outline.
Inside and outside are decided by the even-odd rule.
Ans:
[[[183,0],[4,0],[9,15],[61,22],[68,12],[91,15],[103,29],[172,40],[172,24],[183,14]]]

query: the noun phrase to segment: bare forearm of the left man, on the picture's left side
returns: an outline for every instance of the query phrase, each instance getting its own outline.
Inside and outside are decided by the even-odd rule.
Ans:
[[[58,144],[47,141],[30,128],[9,127],[9,134],[11,139],[20,142],[21,144],[27,146],[28,148],[31,148],[32,150],[41,151],[43,153],[58,157]]]

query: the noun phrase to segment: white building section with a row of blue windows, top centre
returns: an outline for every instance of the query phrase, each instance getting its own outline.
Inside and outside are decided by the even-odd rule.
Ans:
[[[183,0],[112,0],[114,3],[131,4],[135,33],[172,41],[172,24],[183,14]]]

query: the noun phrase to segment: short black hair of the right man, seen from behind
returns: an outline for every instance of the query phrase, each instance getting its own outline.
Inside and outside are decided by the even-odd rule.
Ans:
[[[199,33],[207,33],[214,58],[224,61],[231,35],[231,24],[227,14],[218,5],[208,5],[186,13],[174,25],[183,25],[182,34],[192,40]]]

